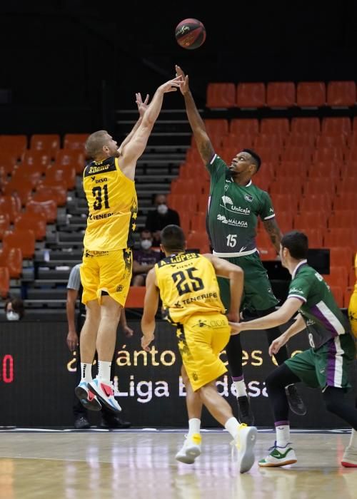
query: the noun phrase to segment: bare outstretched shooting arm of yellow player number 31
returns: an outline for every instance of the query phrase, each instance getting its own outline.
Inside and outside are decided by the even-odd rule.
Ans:
[[[144,116],[130,140],[122,148],[121,171],[130,180],[134,180],[136,161],[144,153],[151,130],[161,111],[164,93],[176,92],[181,83],[181,76],[166,81],[156,90],[154,97],[146,108]]]

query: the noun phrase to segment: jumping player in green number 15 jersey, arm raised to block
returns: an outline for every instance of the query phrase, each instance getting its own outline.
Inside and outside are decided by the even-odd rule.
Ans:
[[[267,192],[253,184],[251,178],[259,170],[261,160],[253,150],[245,149],[237,153],[228,168],[216,155],[206,128],[193,101],[188,76],[176,66],[176,73],[183,77],[180,90],[185,99],[188,121],[193,130],[198,151],[211,175],[211,189],[208,200],[208,235],[213,254],[238,265],[244,271],[243,317],[262,317],[275,309],[278,300],[274,297],[266,269],[261,263],[256,249],[256,227],[258,217],[271,237],[271,242],[279,251],[281,232],[276,224],[275,213]],[[229,310],[229,283],[219,279],[221,299]],[[228,314],[231,316],[231,314]],[[228,317],[236,321],[239,318]],[[268,342],[280,336],[276,327],[267,331]],[[231,336],[226,346],[228,365],[236,386],[238,419],[241,423],[253,424],[246,384],[243,379],[242,347],[239,335]],[[288,359],[286,348],[276,355],[278,364]],[[294,385],[286,387],[291,409],[297,414],[306,413],[306,408]]]

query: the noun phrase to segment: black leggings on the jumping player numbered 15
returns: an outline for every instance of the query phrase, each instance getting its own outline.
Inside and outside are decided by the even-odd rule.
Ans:
[[[255,313],[254,316],[245,317],[244,319],[250,320],[256,317],[264,317],[268,314],[271,314],[271,312],[274,311],[275,308],[259,310]],[[268,344],[270,345],[271,342],[274,339],[278,338],[278,336],[280,335],[281,331],[278,327],[271,327],[271,329],[267,329],[266,336],[268,339]],[[234,334],[233,336],[231,336],[231,339],[228,341],[228,344],[226,346],[226,353],[227,353],[229,371],[231,371],[232,378],[240,378],[241,376],[243,376],[243,367],[242,367],[243,351],[241,346],[241,334]],[[275,355],[275,358],[279,366],[283,364],[283,362],[286,361],[286,359],[288,359],[288,349],[286,348],[286,345],[284,345],[278,351],[278,354]]]

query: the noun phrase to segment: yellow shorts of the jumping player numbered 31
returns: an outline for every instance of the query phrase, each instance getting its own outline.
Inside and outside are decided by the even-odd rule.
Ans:
[[[101,300],[101,292],[125,306],[128,296],[133,257],[130,248],[115,251],[89,251],[84,249],[81,264],[82,302]]]

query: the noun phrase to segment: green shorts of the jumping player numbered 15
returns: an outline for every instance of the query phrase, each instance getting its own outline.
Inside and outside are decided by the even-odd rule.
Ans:
[[[224,258],[228,262],[238,265],[244,271],[244,288],[241,309],[250,312],[270,309],[278,304],[278,299],[273,294],[268,274],[258,252],[248,254],[246,257]],[[221,300],[224,307],[229,310],[231,304],[231,292],[229,290],[229,280],[218,277]]]

